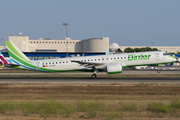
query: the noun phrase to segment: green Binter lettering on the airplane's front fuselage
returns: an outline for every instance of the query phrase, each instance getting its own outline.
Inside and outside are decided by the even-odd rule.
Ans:
[[[133,54],[130,54],[128,55],[128,61],[132,61],[132,60],[148,60],[150,58],[151,54],[150,55],[133,55]]]

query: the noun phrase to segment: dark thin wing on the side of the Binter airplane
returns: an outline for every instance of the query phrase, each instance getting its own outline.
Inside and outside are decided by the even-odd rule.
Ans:
[[[100,65],[104,65],[105,63],[95,63],[95,62],[82,62],[82,61],[77,61],[77,60],[71,60],[72,62],[76,62],[79,63],[80,65],[84,66],[84,67],[92,67],[92,66],[100,66]]]

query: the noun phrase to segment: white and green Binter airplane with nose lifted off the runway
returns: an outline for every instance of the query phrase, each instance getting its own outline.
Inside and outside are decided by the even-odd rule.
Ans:
[[[58,59],[30,60],[11,41],[5,41],[10,59],[16,68],[42,72],[91,71],[91,78],[98,72],[121,73],[122,68],[158,65],[176,62],[176,59],[161,51],[121,53],[96,56],[67,57]],[[160,72],[158,70],[157,72]]]

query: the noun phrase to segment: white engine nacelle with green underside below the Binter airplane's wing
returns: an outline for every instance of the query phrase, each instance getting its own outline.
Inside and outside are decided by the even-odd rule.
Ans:
[[[115,74],[122,72],[122,65],[120,63],[112,63],[106,66],[105,71],[107,74]]]

